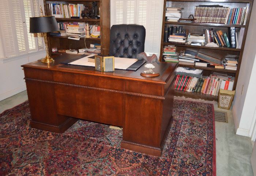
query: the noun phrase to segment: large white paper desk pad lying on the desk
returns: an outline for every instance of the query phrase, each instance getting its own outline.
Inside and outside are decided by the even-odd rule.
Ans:
[[[94,55],[89,55],[83,58],[80,58],[76,61],[70,62],[68,64],[72,65],[83,65],[83,66],[95,66],[94,62],[88,62],[88,57],[91,57]],[[131,58],[121,58],[121,57],[115,57],[115,69],[127,69],[129,66],[134,64],[137,59],[131,59]]]

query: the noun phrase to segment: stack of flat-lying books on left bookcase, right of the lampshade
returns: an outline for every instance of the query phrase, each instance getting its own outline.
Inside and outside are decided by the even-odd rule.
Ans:
[[[84,23],[73,22],[67,25],[68,39],[80,40],[81,37],[85,37]]]

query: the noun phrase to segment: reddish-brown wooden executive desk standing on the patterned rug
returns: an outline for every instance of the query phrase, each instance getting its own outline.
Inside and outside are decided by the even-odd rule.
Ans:
[[[74,57],[79,56],[63,54],[52,64],[22,65],[31,127],[63,133],[78,119],[121,126],[122,148],[161,156],[172,124],[177,64],[154,64],[160,76],[146,78],[140,76],[144,66],[136,72],[98,72],[60,64]]]

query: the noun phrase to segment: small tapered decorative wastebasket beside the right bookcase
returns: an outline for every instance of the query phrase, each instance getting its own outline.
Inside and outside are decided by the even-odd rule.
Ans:
[[[218,108],[230,109],[236,91],[219,89]]]

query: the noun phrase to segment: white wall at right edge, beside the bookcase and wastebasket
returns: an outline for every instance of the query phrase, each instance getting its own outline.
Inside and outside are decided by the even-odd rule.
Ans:
[[[252,137],[256,108],[256,3],[253,4],[251,21],[246,36],[236,95],[233,102],[233,116],[237,134]]]

